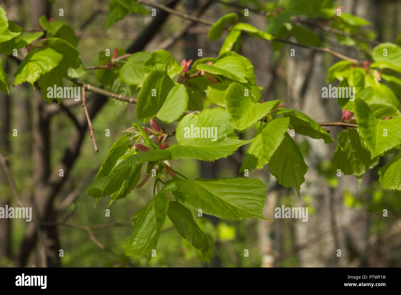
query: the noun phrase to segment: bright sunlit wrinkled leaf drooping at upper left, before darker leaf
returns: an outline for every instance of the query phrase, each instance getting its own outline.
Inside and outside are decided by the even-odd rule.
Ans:
[[[33,50],[22,60],[14,74],[14,84],[33,83],[43,74],[50,72],[63,60],[63,55],[51,48]]]

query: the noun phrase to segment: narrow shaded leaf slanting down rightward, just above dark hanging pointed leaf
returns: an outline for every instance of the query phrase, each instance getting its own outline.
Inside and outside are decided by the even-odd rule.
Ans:
[[[322,126],[300,111],[284,108],[276,112],[276,114],[283,114],[284,117],[290,118],[290,128],[294,128],[298,134],[315,139],[321,138],[324,143],[335,142]]]

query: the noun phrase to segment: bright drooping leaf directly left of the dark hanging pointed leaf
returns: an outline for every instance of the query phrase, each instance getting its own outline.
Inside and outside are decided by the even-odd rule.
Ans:
[[[277,118],[267,124],[262,124],[249,145],[239,171],[262,169],[264,165],[269,163],[284,139],[289,123],[290,119],[288,118]]]

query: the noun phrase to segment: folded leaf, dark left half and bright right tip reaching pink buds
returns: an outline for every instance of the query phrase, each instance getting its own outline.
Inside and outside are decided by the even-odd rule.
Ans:
[[[233,116],[237,130],[243,130],[257,122],[273,108],[277,108],[279,104],[279,100],[264,102],[263,104],[254,103],[249,94],[247,87],[235,82],[231,83],[225,92],[227,110]]]

